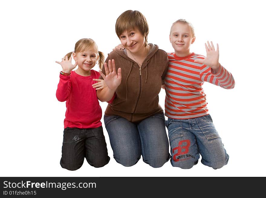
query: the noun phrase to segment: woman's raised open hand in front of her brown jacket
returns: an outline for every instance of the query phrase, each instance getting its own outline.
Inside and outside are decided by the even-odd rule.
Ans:
[[[105,69],[105,75],[102,73],[102,71],[99,71],[99,72],[100,72],[102,78],[104,79],[107,87],[109,87],[109,89],[115,91],[116,88],[121,83],[121,79],[122,79],[121,68],[118,68],[117,74],[116,74],[115,60],[112,59],[112,61],[108,60],[108,65],[106,62],[104,63],[104,69]]]

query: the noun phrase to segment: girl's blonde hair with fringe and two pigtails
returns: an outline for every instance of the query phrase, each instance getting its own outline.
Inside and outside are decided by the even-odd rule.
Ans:
[[[78,52],[84,52],[86,50],[95,50],[95,52],[99,54],[99,61],[98,61],[99,68],[102,69],[102,65],[104,63],[104,54],[98,51],[98,46],[94,40],[87,38],[78,40],[75,44],[75,50],[73,52],[78,53]],[[70,59],[71,54],[73,52],[67,53],[65,56],[67,56],[67,58]]]

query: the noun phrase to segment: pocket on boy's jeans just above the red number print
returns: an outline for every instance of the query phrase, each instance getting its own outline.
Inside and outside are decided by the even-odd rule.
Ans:
[[[166,127],[168,129],[169,142],[184,136],[182,122],[179,120],[168,119]]]

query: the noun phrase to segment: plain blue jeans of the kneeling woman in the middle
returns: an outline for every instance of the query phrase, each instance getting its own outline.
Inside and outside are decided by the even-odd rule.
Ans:
[[[154,168],[170,159],[164,114],[157,113],[132,123],[120,116],[104,116],[114,158],[123,166],[133,166],[141,155]]]

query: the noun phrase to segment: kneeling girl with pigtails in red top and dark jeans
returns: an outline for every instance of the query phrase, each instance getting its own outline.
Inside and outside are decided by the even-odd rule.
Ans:
[[[102,69],[104,55],[98,51],[94,40],[86,38],[75,44],[74,65],[71,54],[61,62],[56,61],[62,66],[56,97],[60,102],[66,101],[60,164],[74,171],[82,166],[85,157],[91,166],[102,167],[110,160],[100,121],[102,109],[96,95],[96,89],[102,89],[104,81],[97,79],[100,74],[92,68],[99,61]],[[76,65],[78,69],[72,71]]]

